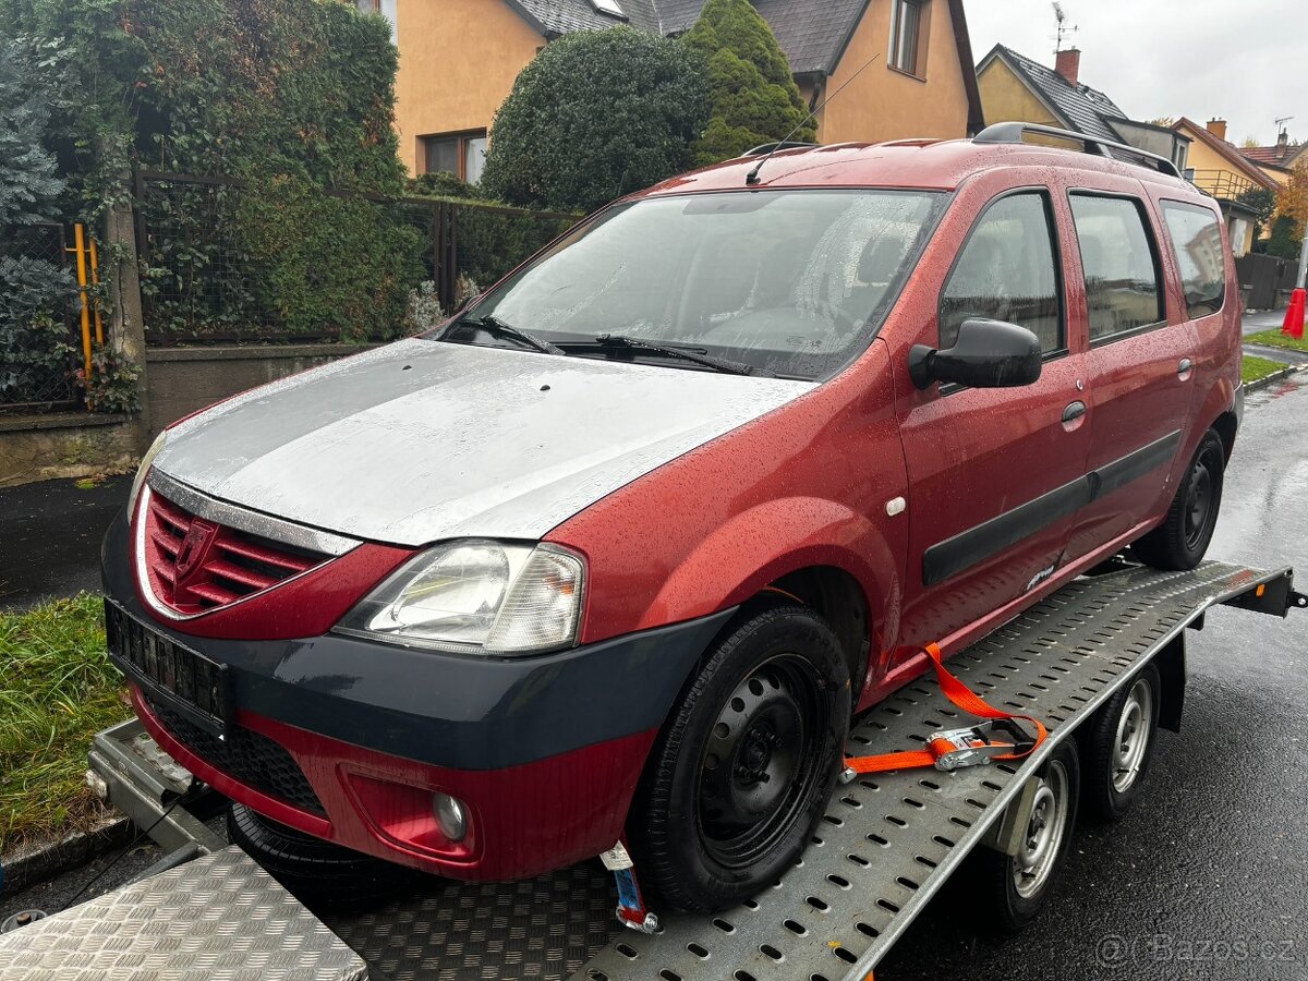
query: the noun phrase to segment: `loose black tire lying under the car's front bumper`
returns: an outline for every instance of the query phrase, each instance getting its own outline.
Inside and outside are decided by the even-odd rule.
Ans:
[[[288,828],[238,803],[228,808],[228,838],[315,908],[368,909],[404,895],[425,878]]]

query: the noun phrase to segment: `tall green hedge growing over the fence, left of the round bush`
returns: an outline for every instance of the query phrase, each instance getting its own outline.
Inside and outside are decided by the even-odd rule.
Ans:
[[[251,188],[191,190],[196,211],[167,213],[143,268],[148,330],[400,330],[421,279],[415,234],[323,194],[404,188],[382,17],[339,0],[0,0],[0,35],[56,93],[47,149],[65,220],[95,228],[136,169]]]

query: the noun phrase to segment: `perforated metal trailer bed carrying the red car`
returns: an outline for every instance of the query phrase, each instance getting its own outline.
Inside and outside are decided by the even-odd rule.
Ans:
[[[177,808],[154,837],[178,859],[203,857],[0,935],[0,977],[863,981],[968,853],[1006,846],[1028,777],[1150,659],[1164,679],[1162,721],[1179,723],[1184,630],[1216,604],[1286,616],[1308,596],[1290,569],[1222,562],[1184,573],[1121,562],[1058,590],[950,661],[991,705],[1045,722],[1050,736],[1032,756],[842,786],[795,867],[717,917],[667,914],[657,935],[623,930],[598,861],[525,883],[439,882],[368,913],[315,917]],[[964,721],[922,678],[859,717],[848,749],[921,748]],[[135,722],[92,752],[92,780],[143,827],[184,786],[158,757]]]

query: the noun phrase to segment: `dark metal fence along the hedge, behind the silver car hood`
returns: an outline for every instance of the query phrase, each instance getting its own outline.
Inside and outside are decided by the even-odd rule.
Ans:
[[[146,343],[339,339],[335,330],[292,326],[283,294],[297,284],[272,281],[276,273],[269,262],[254,258],[249,217],[242,212],[250,194],[250,187],[230,178],[136,174],[136,249]],[[574,215],[471,201],[320,194],[324,208],[331,201],[353,201],[370,209],[383,234],[388,229],[391,238],[404,237],[413,245],[412,262],[378,286],[385,296],[368,298],[373,301],[370,310],[408,306],[412,311],[425,292],[441,310],[450,311],[467,293],[484,290],[577,221]],[[297,213],[303,217],[303,212]],[[288,233],[294,235],[296,229]],[[330,276],[331,264],[353,260],[337,252],[327,263],[324,256],[323,276]],[[375,260],[357,255],[358,263]],[[412,330],[404,320],[407,315],[374,318],[364,334],[373,340],[399,336]]]

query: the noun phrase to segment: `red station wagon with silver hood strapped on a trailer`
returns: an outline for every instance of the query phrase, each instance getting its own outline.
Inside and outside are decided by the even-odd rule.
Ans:
[[[757,892],[923,645],[1213,534],[1220,213],[1024,129],[668,181],[429,335],[166,430],[103,551],[149,732],[288,875],[625,840],[671,905]]]

